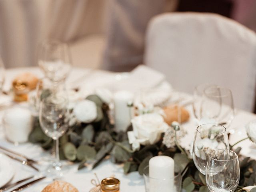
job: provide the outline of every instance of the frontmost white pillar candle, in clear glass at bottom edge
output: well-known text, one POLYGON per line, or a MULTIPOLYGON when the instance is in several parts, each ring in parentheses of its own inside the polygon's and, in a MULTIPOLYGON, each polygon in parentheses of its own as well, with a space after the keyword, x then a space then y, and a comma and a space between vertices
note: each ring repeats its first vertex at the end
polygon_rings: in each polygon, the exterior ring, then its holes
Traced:
POLYGON ((174 192, 174 160, 155 156, 149 160, 150 192, 174 192))

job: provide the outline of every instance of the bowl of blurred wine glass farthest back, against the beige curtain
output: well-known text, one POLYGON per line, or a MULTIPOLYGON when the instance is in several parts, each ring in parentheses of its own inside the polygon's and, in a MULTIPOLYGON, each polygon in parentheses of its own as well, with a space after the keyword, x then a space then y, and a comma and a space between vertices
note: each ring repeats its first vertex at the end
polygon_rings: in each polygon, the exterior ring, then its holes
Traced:
POLYGON ((64 81, 71 69, 68 45, 57 40, 46 40, 38 49, 38 65, 50 80, 64 81))

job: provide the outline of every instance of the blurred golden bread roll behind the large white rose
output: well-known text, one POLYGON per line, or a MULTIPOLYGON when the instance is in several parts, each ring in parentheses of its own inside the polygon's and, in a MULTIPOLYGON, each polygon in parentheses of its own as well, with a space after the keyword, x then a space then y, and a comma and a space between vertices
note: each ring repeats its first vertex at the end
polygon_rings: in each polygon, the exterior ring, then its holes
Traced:
POLYGON ((164 113, 166 114, 166 116, 164 116, 164 121, 168 125, 172 124, 173 121, 178 121, 179 108, 181 112, 181 122, 188 121, 189 113, 184 107, 171 105, 164 108, 164 113))

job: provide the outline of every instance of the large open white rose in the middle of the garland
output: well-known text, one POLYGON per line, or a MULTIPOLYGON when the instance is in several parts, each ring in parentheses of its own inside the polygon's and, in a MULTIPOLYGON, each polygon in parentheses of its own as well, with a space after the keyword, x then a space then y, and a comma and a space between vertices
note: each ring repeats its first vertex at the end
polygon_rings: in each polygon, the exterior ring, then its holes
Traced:
POLYGON ((142 145, 154 144, 161 138, 162 132, 168 129, 168 124, 160 114, 150 113, 136 116, 131 120, 133 131, 128 132, 129 143, 142 145))

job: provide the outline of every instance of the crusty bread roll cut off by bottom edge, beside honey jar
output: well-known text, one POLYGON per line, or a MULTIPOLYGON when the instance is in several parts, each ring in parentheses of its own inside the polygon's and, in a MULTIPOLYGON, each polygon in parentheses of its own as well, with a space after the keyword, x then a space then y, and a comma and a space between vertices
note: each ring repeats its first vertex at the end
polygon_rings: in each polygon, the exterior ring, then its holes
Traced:
POLYGON ((78 192, 78 190, 68 182, 54 181, 46 186, 42 192, 78 192))

